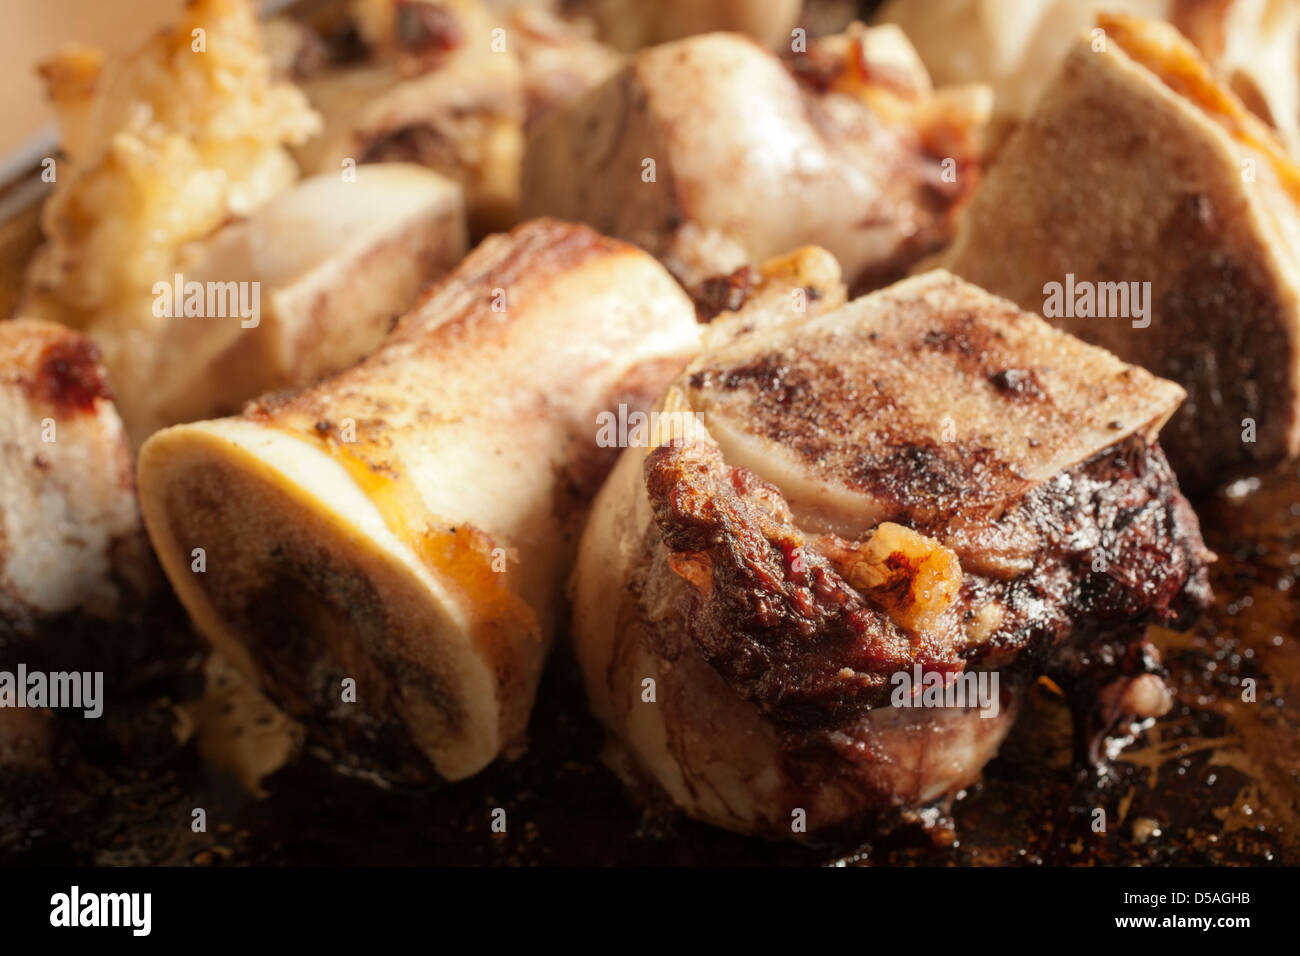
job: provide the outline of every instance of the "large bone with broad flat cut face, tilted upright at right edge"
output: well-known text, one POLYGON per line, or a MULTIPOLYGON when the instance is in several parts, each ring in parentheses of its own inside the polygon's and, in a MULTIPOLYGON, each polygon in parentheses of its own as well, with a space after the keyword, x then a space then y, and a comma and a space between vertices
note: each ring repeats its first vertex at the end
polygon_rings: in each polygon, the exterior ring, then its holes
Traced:
POLYGON ((1300 453, 1300 166, 1178 30, 1101 26, 1105 49, 1075 40, 937 264, 1178 381, 1161 445, 1202 493, 1300 453))

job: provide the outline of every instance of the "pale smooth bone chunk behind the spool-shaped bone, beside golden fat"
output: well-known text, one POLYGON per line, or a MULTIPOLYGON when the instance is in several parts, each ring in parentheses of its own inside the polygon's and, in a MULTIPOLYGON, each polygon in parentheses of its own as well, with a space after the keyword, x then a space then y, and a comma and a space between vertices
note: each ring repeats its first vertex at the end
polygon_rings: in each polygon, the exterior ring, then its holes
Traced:
POLYGON ((460 189, 406 163, 304 179, 247 220, 196 245, 185 278, 259 286, 260 315, 178 315, 157 336, 152 415, 133 431, 229 415, 264 392, 358 362, 420 290, 465 252, 460 189))

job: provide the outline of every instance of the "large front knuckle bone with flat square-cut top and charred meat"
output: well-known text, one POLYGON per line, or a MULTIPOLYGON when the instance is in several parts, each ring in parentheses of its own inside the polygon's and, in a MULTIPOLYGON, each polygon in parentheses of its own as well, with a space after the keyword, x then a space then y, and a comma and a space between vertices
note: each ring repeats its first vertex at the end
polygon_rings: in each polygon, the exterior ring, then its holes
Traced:
POLYGON ((1145 626, 1210 598, 1154 441, 1180 398, 941 272, 715 342, 602 489, 575 572, 628 777, 788 836, 798 810, 826 830, 970 784, 1040 674, 1084 752, 1162 713, 1145 626), (988 693, 922 715, 913 675, 988 693))

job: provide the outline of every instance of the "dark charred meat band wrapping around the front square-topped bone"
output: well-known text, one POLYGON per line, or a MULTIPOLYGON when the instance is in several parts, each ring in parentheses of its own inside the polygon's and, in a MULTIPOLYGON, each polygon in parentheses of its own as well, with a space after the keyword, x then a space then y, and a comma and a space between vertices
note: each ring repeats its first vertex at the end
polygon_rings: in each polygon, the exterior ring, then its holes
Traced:
POLYGON ((1017 510, 1040 536, 1032 567, 1010 580, 967 575, 952 615, 926 632, 900 627, 852 588, 794 525, 780 492, 727 466, 715 446, 655 449, 645 483, 668 564, 690 585, 680 613, 692 640, 786 730, 852 723, 884 702, 892 674, 916 663, 1043 667, 1065 645, 1079 658, 1089 641, 1138 640, 1147 623, 1183 623, 1210 601, 1195 516, 1160 447, 1138 437, 1030 492, 1017 510), (989 605, 996 627, 968 640, 989 605))

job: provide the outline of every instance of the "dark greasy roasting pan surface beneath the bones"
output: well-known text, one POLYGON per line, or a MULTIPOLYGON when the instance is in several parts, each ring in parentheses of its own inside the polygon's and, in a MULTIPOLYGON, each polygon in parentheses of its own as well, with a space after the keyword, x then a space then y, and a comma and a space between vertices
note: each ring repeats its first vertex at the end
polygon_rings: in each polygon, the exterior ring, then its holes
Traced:
MULTIPOLYGON (((330 5, 294 5, 313 16, 330 5)), ((47 138, 48 139, 48 138, 47 138)), ((0 165, 0 308, 12 315, 39 241, 32 143, 0 165)), ((1269 865, 1300 864, 1300 463, 1195 502, 1216 606, 1187 633, 1157 631, 1175 705, 1105 765, 1071 762, 1070 717, 1048 683, 950 826, 842 843, 774 844, 629 803, 601 762, 577 669, 560 643, 526 753, 456 784, 394 790, 338 773, 311 747, 251 796, 172 730, 202 688, 198 643, 166 680, 142 682, 117 722, 70 740, 51 779, 0 791, 0 860, 162 865, 1269 865), (203 808, 209 826, 185 823, 203 808), (490 813, 520 823, 493 834, 490 813), (1101 812, 1098 814, 1097 812, 1101 812), (1098 827, 1098 821, 1102 826, 1098 827)), ((88 722, 79 722, 84 728, 88 722)), ((1124 744, 1122 748, 1118 744, 1124 744)))

